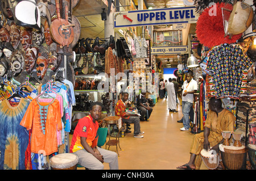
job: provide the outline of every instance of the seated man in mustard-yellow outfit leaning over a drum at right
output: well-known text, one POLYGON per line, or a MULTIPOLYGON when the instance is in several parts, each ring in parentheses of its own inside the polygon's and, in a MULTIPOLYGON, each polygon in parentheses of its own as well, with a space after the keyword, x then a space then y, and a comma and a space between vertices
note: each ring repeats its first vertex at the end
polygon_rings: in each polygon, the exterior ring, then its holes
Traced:
POLYGON ((221 132, 234 132, 234 123, 236 118, 232 112, 222 108, 221 99, 210 99, 209 110, 210 111, 207 114, 207 120, 204 125, 204 132, 193 136, 189 162, 177 167, 177 169, 199 170, 202 163, 200 151, 202 149, 210 149, 218 152, 218 145, 224 142, 221 132))

